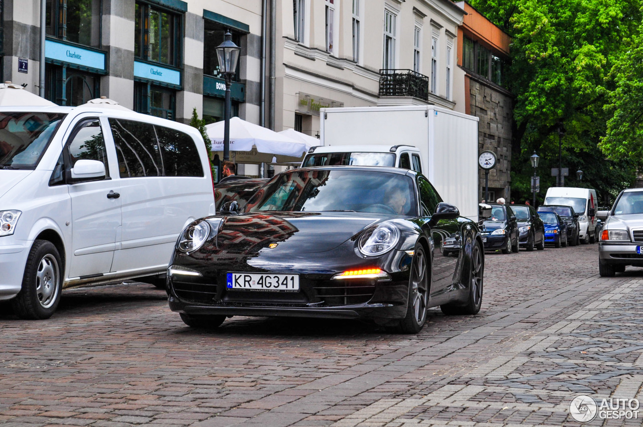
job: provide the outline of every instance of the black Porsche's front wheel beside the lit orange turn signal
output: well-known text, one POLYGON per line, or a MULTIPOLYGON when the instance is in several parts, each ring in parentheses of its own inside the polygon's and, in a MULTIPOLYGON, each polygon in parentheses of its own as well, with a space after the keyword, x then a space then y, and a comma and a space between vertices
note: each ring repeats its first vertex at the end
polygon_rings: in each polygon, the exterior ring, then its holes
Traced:
POLYGON ((399 332, 417 334, 426 322, 429 299, 429 274, 426 254, 421 244, 417 244, 411 264, 406 317, 399 323, 399 332))

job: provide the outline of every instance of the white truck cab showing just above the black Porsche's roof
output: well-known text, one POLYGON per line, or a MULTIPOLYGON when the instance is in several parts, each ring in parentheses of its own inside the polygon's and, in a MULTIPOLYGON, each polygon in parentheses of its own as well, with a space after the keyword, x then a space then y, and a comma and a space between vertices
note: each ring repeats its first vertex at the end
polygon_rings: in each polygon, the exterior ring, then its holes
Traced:
POLYGON ((424 172, 420 150, 412 145, 321 145, 311 147, 302 167, 386 166, 424 172))

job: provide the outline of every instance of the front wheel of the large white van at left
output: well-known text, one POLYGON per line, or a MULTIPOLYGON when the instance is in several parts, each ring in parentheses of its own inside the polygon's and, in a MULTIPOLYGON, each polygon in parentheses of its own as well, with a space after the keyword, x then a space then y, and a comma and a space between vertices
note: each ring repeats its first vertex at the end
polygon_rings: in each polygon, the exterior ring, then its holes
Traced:
POLYGON ((62 262, 58 250, 49 241, 33 242, 24 268, 23 287, 11 300, 14 313, 23 319, 48 319, 58 307, 61 291, 62 262))

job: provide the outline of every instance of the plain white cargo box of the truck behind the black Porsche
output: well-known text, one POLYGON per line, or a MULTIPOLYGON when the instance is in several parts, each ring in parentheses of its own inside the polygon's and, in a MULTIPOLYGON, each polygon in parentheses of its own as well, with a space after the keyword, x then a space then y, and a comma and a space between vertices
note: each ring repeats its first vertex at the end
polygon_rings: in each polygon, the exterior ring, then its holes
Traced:
POLYGON ((370 145, 378 152, 381 146, 395 152, 401 145, 415 147, 422 174, 442 199, 478 221, 477 117, 434 105, 322 108, 320 114, 322 145, 370 145))

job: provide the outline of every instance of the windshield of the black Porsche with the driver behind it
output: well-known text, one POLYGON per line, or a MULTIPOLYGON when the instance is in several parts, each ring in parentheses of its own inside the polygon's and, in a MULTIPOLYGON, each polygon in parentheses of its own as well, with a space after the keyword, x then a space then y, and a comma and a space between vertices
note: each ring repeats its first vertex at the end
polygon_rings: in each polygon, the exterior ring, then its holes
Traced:
POLYGON ((416 215, 411 177, 370 170, 293 170, 262 188, 247 212, 374 212, 416 215))

